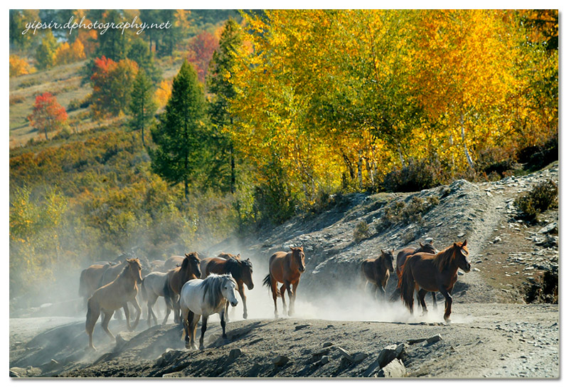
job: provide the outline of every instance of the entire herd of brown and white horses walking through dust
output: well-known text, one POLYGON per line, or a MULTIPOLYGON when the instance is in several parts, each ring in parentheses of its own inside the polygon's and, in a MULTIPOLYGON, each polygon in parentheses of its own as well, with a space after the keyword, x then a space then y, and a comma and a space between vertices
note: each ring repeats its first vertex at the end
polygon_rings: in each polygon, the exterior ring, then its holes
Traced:
MULTIPOLYGON (((129 255, 124 255, 129 256, 129 255)), ((166 302, 166 323, 170 313, 174 313, 174 322, 184 326, 186 348, 195 349, 195 332, 198 320, 201 318, 200 348, 203 348, 203 336, 206 332, 209 315, 219 314, 222 337, 225 335, 225 324, 228 322, 229 305, 238 304, 237 291, 243 300, 243 318, 247 319, 247 303, 244 285, 249 290, 253 288, 252 263, 250 259, 243 260, 240 255, 220 253, 216 257, 198 257, 198 253, 186 253, 185 256, 171 256, 167 261, 154 261, 152 271, 142 276, 142 265, 138 258, 119 257, 119 263, 96 263, 81 272, 79 293, 85 298, 87 317, 85 330, 89 336, 89 348, 92 345, 92 332, 98 318, 102 316, 102 328, 114 340, 108 325, 112 315, 122 309, 129 330, 134 330, 140 319, 141 307, 137 296, 147 305, 147 323, 151 320, 157 324, 154 314, 154 304, 159 297, 166 302), (124 258, 124 260, 122 260, 124 258), (140 286, 139 286, 140 285, 140 286), (140 293, 138 292, 140 288, 140 293), (129 322, 129 303, 137 311, 134 324, 129 322)), ((450 320, 452 288, 457 281, 457 271, 461 268, 470 271, 468 261, 467 241, 453 243, 442 251, 437 251, 431 242, 419 248, 404 248, 397 255, 395 269, 393 268, 393 251, 381 250, 381 255, 375 259, 361 262, 361 276, 366 286, 372 285, 373 295, 385 300, 385 287, 390 273, 398 276, 398 285, 390 300, 403 299, 403 303, 413 314, 413 295, 417 291, 418 301, 423 313, 427 312, 425 295, 432 293, 433 305, 436 308, 435 293, 438 291, 445 297, 446 321, 450 320)), ((263 279, 272 293, 275 305, 275 318, 278 318, 277 298, 282 298, 282 313, 287 312, 285 291, 289 296, 288 315, 294 314, 294 300, 300 276, 306 270, 304 249, 290 247, 289 252, 273 253, 269 259, 269 273, 263 279), (280 288, 277 284, 281 283, 280 288)))

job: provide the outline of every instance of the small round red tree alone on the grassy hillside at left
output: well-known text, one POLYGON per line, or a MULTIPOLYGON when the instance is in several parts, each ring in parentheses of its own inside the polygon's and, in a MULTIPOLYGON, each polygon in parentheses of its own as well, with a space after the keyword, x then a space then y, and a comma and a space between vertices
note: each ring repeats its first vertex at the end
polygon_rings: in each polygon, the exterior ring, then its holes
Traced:
POLYGON ((46 140, 48 140, 48 132, 62 129, 67 118, 65 108, 58 103, 55 96, 48 92, 36 96, 33 112, 28 116, 32 127, 43 131, 46 140))

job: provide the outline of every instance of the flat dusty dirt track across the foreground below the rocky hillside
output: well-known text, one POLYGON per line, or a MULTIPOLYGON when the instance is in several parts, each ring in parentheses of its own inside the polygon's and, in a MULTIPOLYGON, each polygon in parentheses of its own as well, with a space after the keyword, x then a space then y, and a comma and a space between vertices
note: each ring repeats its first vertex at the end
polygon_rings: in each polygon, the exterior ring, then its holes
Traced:
MULTIPOLYGON (((383 347, 405 343, 400 360, 408 377, 554 378, 559 374, 558 313, 557 305, 460 303, 449 325, 437 322, 435 313, 427 322, 416 316, 405 323, 238 320, 228 324, 227 344, 212 321, 206 349, 196 351, 184 349, 174 324, 131 333, 115 321, 112 330, 124 342, 115 346, 95 330, 95 353, 85 349, 84 323, 78 320, 43 332, 26 345, 12 345, 11 370, 60 377, 374 377, 383 347), (437 335, 437 342, 421 341, 437 335), (63 350, 61 342, 66 344, 63 350), (324 347, 326 342, 332 345, 324 347), (361 360, 343 360, 339 348, 361 360), (238 353, 234 359, 232 350, 238 353), (321 362, 324 355, 326 363, 321 362), (279 356, 289 361, 275 366, 279 356), (26 369, 28 364, 36 368, 26 369)), ((11 335, 24 327, 31 334, 34 327, 39 329, 38 321, 18 320, 11 335)))

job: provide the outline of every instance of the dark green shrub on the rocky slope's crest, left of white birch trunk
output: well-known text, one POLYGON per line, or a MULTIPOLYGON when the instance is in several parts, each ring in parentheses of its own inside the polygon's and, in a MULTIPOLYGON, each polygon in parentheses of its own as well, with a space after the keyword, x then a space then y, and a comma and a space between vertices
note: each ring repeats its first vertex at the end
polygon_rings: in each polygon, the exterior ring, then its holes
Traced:
POLYGON ((387 192, 420 192, 423 189, 439 186, 441 165, 438 159, 428 162, 425 159, 411 159, 402 169, 395 169, 385 175, 383 189, 387 192))

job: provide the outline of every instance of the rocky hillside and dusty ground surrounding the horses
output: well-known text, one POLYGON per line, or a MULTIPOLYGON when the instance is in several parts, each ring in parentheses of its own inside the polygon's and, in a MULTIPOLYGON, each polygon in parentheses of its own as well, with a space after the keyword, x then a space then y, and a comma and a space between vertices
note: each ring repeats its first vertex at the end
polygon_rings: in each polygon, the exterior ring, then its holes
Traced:
MULTIPOLYGON (((516 218, 514 206, 517 196, 545 179, 558 182, 557 163, 499 182, 459 180, 419 193, 336 198, 319 214, 212 247, 212 252, 250 257, 256 286, 246 291, 250 319, 240 319, 238 306, 224 343, 218 320, 212 318, 205 350, 185 350, 174 323, 147 328, 144 321, 128 332, 122 321, 113 320, 117 343, 97 325, 97 352, 87 352, 84 312, 46 318, 65 310, 54 303, 13 313, 11 375, 558 377, 558 305, 525 302, 528 295, 546 300, 543 275, 557 276, 558 209, 541 214, 538 224, 526 224, 516 218), (425 204, 430 204, 426 210, 420 208, 425 204), (401 219, 413 206, 419 206, 420 216, 401 219), (395 207, 403 213, 395 214, 395 207), (354 230, 361 221, 370 233, 356 242, 354 230), (411 316, 399 302, 372 300, 358 280, 363 258, 378 256, 380 248, 418 246, 425 238, 433 238, 439 249, 468 241, 473 269, 459 273, 450 324, 442 320, 442 299, 437 310, 427 304, 427 315, 411 316), (275 320, 261 280, 270 253, 291 245, 304 246, 307 272, 298 288, 297 314, 275 320)), ((69 307, 70 302, 59 305, 69 307)))

